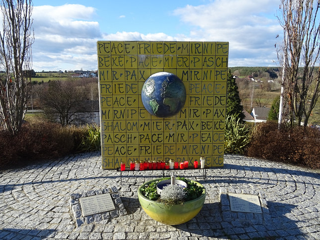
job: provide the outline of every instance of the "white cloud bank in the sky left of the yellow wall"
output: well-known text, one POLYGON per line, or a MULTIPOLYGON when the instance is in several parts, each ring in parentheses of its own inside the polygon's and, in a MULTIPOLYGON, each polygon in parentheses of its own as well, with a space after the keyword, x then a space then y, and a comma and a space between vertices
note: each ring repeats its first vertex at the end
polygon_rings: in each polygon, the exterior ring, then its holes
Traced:
POLYGON ((33 69, 96 69, 95 46, 101 31, 99 23, 91 21, 94 14, 95 8, 80 4, 34 6, 33 69))

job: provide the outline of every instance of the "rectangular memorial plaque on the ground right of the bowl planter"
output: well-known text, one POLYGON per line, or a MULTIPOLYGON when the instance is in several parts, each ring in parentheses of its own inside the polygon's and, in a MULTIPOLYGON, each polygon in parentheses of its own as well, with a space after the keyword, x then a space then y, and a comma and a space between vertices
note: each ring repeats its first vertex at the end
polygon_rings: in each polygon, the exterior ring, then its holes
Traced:
POLYGON ((231 211, 244 213, 262 213, 257 195, 229 193, 231 211))

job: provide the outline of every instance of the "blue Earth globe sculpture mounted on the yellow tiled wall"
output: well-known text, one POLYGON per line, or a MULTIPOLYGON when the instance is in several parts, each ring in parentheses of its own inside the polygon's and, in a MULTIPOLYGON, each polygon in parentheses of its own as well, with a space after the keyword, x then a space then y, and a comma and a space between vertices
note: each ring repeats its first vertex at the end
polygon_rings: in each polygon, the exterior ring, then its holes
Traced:
POLYGON ((178 113, 186 99, 182 81, 174 74, 160 72, 151 75, 141 92, 143 105, 150 114, 170 117, 178 113))

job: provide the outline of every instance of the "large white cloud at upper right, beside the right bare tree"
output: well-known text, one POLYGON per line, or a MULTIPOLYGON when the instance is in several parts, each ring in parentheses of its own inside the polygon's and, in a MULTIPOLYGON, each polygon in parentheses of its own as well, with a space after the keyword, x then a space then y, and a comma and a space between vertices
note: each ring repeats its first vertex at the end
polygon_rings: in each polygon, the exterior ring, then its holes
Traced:
POLYGON ((173 13, 192 26, 190 36, 195 40, 229 42, 229 66, 269 66, 276 58, 275 36, 281 33, 274 16, 278 4, 278 0, 215 0, 173 13))

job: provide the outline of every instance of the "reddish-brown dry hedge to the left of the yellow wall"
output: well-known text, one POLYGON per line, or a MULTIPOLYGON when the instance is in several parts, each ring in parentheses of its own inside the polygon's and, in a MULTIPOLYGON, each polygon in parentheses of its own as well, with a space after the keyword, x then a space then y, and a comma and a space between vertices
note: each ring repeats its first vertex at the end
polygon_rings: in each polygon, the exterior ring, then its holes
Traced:
POLYGON ((59 124, 24 124, 17 135, 0 132, 0 167, 7 168, 33 160, 52 159, 75 153, 85 129, 63 128, 59 124))

